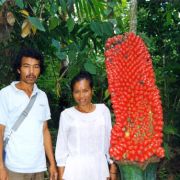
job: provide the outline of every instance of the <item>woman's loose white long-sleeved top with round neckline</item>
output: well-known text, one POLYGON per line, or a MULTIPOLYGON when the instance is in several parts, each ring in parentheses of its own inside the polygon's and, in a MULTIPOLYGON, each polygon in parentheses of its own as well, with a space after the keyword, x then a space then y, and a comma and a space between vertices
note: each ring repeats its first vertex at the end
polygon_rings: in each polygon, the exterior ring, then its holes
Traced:
POLYGON ((91 113, 74 107, 61 113, 56 143, 57 166, 65 166, 65 180, 106 180, 111 116, 104 104, 91 113))

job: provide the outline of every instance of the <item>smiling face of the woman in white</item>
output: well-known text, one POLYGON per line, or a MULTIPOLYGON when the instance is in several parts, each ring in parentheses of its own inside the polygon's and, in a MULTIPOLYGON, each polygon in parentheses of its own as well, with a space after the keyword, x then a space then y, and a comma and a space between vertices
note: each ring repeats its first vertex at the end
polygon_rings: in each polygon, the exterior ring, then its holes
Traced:
POLYGON ((91 103, 92 88, 88 80, 82 79, 74 84, 73 97, 79 106, 86 106, 91 103))

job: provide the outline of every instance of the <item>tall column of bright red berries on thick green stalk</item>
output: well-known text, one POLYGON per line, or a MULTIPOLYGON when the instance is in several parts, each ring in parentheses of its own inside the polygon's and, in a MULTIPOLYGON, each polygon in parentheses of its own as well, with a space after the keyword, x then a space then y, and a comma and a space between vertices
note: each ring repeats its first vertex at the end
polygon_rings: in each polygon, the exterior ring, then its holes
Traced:
POLYGON ((150 54, 134 33, 106 42, 105 64, 115 125, 110 155, 115 160, 144 162, 164 157, 163 112, 150 54))

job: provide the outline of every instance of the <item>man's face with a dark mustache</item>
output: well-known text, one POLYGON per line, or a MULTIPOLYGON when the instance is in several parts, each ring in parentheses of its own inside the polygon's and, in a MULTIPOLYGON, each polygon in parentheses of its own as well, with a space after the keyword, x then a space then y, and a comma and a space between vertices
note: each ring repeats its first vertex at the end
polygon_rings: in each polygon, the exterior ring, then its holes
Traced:
POLYGON ((40 74, 39 60, 31 57, 23 57, 21 67, 17 70, 20 74, 20 81, 27 84, 34 84, 40 74))

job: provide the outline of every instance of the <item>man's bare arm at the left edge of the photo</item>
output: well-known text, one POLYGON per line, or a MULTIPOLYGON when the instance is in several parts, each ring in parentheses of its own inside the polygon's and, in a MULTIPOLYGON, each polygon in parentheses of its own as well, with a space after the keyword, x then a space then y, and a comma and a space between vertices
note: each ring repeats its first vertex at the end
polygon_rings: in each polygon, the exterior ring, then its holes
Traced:
POLYGON ((3 137, 5 126, 0 124, 0 180, 8 180, 8 174, 3 162, 3 137))

